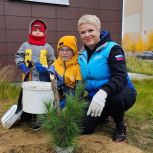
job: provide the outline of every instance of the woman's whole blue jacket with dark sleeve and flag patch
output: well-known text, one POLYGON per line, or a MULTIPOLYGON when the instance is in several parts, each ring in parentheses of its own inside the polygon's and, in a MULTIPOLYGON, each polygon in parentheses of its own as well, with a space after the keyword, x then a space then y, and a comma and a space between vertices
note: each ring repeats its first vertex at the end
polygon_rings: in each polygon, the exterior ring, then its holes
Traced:
POLYGON ((105 90, 108 95, 120 92, 125 85, 135 91, 127 75, 122 48, 107 36, 110 33, 103 32, 95 50, 91 51, 85 46, 78 58, 89 96, 94 96, 99 89, 105 90))

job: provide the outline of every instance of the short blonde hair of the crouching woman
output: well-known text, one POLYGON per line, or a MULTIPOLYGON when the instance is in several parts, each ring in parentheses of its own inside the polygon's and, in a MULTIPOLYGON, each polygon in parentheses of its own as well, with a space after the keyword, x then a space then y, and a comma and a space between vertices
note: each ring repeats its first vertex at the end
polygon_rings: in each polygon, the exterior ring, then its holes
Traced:
POLYGON ((85 15, 81 16, 78 21, 78 29, 79 29, 80 25, 82 25, 82 24, 91 24, 91 25, 95 26, 98 30, 101 29, 100 19, 96 15, 85 14, 85 15))

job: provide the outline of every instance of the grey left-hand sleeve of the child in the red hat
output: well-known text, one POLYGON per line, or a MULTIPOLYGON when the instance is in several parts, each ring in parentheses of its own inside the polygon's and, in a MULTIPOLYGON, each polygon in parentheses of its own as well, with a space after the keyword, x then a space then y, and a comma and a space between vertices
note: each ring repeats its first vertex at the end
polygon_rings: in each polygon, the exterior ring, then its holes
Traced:
POLYGON ((17 66, 20 65, 20 63, 24 63, 25 59, 25 43, 23 43, 19 50, 15 54, 15 63, 17 66))

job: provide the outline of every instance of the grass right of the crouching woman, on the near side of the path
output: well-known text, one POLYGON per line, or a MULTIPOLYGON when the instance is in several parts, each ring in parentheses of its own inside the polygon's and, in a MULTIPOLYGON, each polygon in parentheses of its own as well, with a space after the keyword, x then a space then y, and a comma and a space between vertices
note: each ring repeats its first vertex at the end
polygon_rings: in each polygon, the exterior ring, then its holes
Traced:
POLYGON ((137 101, 126 113, 128 143, 153 152, 153 79, 134 81, 137 101))

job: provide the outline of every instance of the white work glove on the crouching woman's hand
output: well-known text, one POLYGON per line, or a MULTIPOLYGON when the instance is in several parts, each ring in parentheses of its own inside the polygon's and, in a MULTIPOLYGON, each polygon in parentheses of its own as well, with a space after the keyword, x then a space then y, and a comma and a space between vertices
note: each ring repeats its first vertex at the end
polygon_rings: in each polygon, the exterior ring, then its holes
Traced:
POLYGON ((90 106, 88 108, 87 115, 92 117, 100 116, 105 106, 107 93, 100 89, 92 98, 90 106))

